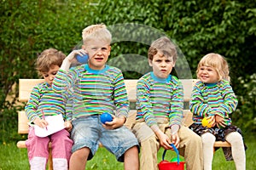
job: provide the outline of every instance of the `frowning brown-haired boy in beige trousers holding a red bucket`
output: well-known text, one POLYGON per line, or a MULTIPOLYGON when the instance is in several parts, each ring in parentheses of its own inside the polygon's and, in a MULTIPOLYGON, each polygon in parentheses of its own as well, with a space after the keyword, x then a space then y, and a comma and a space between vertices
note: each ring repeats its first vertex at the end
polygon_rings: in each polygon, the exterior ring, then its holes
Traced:
POLYGON ((177 49, 167 37, 155 40, 148 49, 153 71, 137 82, 137 121, 133 133, 141 144, 142 170, 157 168, 157 152, 175 144, 184 156, 187 169, 203 168, 201 139, 182 124, 183 86, 170 73, 177 60, 177 49))

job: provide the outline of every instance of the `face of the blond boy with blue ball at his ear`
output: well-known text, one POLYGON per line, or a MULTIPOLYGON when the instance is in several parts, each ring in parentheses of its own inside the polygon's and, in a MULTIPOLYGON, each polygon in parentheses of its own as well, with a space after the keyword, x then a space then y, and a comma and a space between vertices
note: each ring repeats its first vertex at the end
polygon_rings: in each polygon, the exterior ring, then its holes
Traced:
POLYGON ((93 70, 102 70, 108 60, 111 46, 108 42, 89 41, 88 45, 84 45, 85 50, 89 55, 88 65, 93 70))

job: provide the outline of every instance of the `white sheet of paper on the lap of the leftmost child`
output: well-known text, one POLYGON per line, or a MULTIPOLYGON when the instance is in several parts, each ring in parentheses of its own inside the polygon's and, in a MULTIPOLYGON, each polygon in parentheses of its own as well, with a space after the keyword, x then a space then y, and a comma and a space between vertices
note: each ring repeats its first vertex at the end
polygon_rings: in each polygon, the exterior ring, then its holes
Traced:
POLYGON ((65 128, 62 115, 45 116, 45 121, 48 122, 47 128, 42 128, 35 125, 35 133, 38 137, 46 137, 65 128))

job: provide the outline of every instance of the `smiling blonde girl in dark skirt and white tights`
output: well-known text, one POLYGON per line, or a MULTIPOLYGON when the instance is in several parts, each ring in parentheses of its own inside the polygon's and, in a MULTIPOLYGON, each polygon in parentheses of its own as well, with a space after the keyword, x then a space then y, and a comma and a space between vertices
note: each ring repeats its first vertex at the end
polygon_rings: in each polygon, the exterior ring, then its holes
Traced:
POLYGON ((233 160, 237 170, 246 169, 245 148, 241 129, 232 125, 230 114, 236 111, 237 99, 230 86, 229 65, 220 54, 205 55, 197 66, 197 78, 189 105, 194 114, 189 128, 201 136, 204 169, 212 169, 213 144, 227 141, 230 148, 223 148, 226 160, 233 160), (210 127, 202 126, 207 117, 210 127))

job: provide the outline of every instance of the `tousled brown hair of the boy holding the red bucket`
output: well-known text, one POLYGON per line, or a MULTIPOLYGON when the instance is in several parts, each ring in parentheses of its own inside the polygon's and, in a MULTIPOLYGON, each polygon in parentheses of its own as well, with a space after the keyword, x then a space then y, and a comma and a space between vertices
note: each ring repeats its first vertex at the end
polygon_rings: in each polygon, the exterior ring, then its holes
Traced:
POLYGON ((148 49, 148 59, 152 60, 158 51, 165 56, 172 57, 174 62, 177 60, 177 49, 168 37, 160 37, 152 42, 148 49))

